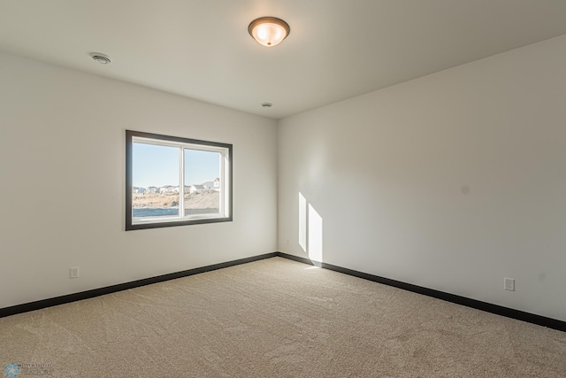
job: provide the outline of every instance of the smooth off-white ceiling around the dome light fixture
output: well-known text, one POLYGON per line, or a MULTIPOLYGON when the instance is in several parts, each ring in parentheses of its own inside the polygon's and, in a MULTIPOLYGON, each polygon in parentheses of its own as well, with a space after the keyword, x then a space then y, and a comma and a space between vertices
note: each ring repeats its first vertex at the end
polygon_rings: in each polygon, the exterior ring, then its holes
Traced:
POLYGON ((0 1, 0 50, 273 119, 564 34, 565 0, 0 1))

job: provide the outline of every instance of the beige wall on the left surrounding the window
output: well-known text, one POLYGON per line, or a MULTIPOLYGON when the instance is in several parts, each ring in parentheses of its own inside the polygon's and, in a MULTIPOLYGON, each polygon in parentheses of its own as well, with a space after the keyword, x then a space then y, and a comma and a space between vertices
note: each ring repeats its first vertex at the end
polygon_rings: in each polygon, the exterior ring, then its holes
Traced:
POLYGON ((0 308, 276 251, 276 121, 26 58, 0 67, 0 308), (233 222, 125 232, 126 129, 233 143, 233 222))

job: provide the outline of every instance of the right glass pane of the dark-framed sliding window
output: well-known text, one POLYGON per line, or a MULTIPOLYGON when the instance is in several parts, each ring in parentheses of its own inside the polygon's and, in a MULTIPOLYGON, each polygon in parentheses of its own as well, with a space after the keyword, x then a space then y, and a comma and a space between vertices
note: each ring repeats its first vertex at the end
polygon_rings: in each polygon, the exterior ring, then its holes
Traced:
POLYGON ((222 154, 185 149, 185 216, 220 212, 222 154))

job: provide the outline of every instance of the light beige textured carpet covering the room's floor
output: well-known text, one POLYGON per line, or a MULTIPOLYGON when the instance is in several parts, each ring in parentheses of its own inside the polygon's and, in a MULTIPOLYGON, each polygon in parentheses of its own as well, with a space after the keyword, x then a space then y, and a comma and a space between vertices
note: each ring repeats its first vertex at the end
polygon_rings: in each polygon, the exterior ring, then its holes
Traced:
POLYGON ((0 319, 0 374, 8 363, 56 377, 564 377, 566 333, 270 258, 0 319))

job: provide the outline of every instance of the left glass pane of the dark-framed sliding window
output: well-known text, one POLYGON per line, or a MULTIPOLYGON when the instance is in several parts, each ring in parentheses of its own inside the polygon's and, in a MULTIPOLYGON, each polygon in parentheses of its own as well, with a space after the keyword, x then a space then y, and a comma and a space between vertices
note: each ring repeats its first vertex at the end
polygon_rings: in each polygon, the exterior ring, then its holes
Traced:
POLYGON ((132 143, 132 216, 179 216, 178 147, 132 143))

